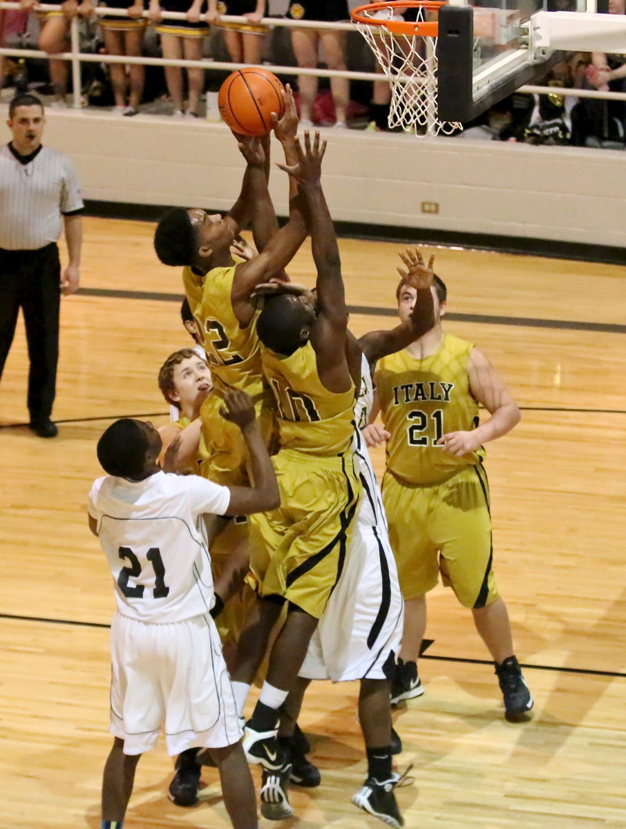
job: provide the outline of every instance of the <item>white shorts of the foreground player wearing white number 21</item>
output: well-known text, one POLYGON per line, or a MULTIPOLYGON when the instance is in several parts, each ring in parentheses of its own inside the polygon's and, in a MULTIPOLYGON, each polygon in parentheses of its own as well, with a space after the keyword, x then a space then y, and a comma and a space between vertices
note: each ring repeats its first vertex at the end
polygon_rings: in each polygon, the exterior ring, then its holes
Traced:
POLYGON ((148 624, 116 613, 111 625, 111 721, 124 754, 153 749, 162 725, 167 753, 222 748, 241 728, 213 619, 148 624))

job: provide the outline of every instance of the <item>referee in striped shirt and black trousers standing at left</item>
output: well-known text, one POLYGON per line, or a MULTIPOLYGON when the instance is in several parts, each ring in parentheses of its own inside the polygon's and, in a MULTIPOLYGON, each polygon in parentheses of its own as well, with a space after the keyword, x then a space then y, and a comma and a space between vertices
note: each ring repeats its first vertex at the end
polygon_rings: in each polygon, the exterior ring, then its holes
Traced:
POLYGON ((0 147, 0 377, 22 308, 28 356, 29 428, 54 438, 61 293, 78 288, 83 201, 70 159, 41 146, 46 119, 35 95, 9 104, 12 141, 0 147), (56 241, 65 229, 70 261, 61 274, 56 241))

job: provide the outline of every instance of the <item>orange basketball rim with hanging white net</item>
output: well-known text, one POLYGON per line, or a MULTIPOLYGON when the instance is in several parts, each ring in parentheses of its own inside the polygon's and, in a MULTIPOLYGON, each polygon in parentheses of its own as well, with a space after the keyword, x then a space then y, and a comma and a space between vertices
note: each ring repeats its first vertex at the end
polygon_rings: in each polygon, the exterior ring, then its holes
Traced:
POLYGON ((352 22, 391 80, 387 121, 391 128, 421 136, 462 128, 437 117, 439 23, 433 17, 445 5, 439 0, 391 0, 358 6, 351 12, 352 22))

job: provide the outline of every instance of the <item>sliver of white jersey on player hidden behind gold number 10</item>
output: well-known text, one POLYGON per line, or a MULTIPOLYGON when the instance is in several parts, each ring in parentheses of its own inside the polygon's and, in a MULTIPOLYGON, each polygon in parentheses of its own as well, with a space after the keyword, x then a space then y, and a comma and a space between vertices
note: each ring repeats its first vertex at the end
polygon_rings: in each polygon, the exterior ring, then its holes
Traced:
POLYGON ((370 365, 365 354, 362 356, 361 366, 361 390, 354 406, 355 422, 357 431, 352 442, 352 451, 357 466, 357 473, 363 484, 363 494, 357 521, 362 527, 384 527, 386 530, 387 520, 385 510, 382 506, 381 487, 378 484, 376 473, 371 465, 370 455, 367 452, 365 440, 362 438, 361 429, 365 429, 369 423, 371 407, 374 404, 374 384, 371 380, 370 365))

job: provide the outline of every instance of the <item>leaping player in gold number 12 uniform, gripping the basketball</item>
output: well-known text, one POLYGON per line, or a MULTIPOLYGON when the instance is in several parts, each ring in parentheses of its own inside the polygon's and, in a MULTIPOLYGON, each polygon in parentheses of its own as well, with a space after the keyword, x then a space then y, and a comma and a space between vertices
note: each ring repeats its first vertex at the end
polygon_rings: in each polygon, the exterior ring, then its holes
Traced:
MULTIPOLYGON (((298 127, 293 95, 285 91, 285 113, 274 131, 283 144, 285 161, 294 163, 298 127)), ((265 142, 269 147, 269 141, 265 142)), ((281 274, 306 236, 297 191, 292 187, 289 221, 277 230, 267 188, 266 155, 260 138, 242 138, 248 162, 240 196, 222 217, 200 209, 169 211, 158 223, 154 246, 164 264, 185 265, 183 284, 189 306, 205 338, 205 351, 214 389, 202 405, 202 435, 209 458, 202 474, 217 482, 247 480, 245 446, 236 429, 223 424, 221 396, 229 387, 245 390, 259 407, 264 400, 257 311, 250 292, 257 284, 281 274), (235 262, 231 244, 240 227, 252 222, 259 254, 235 262)))

